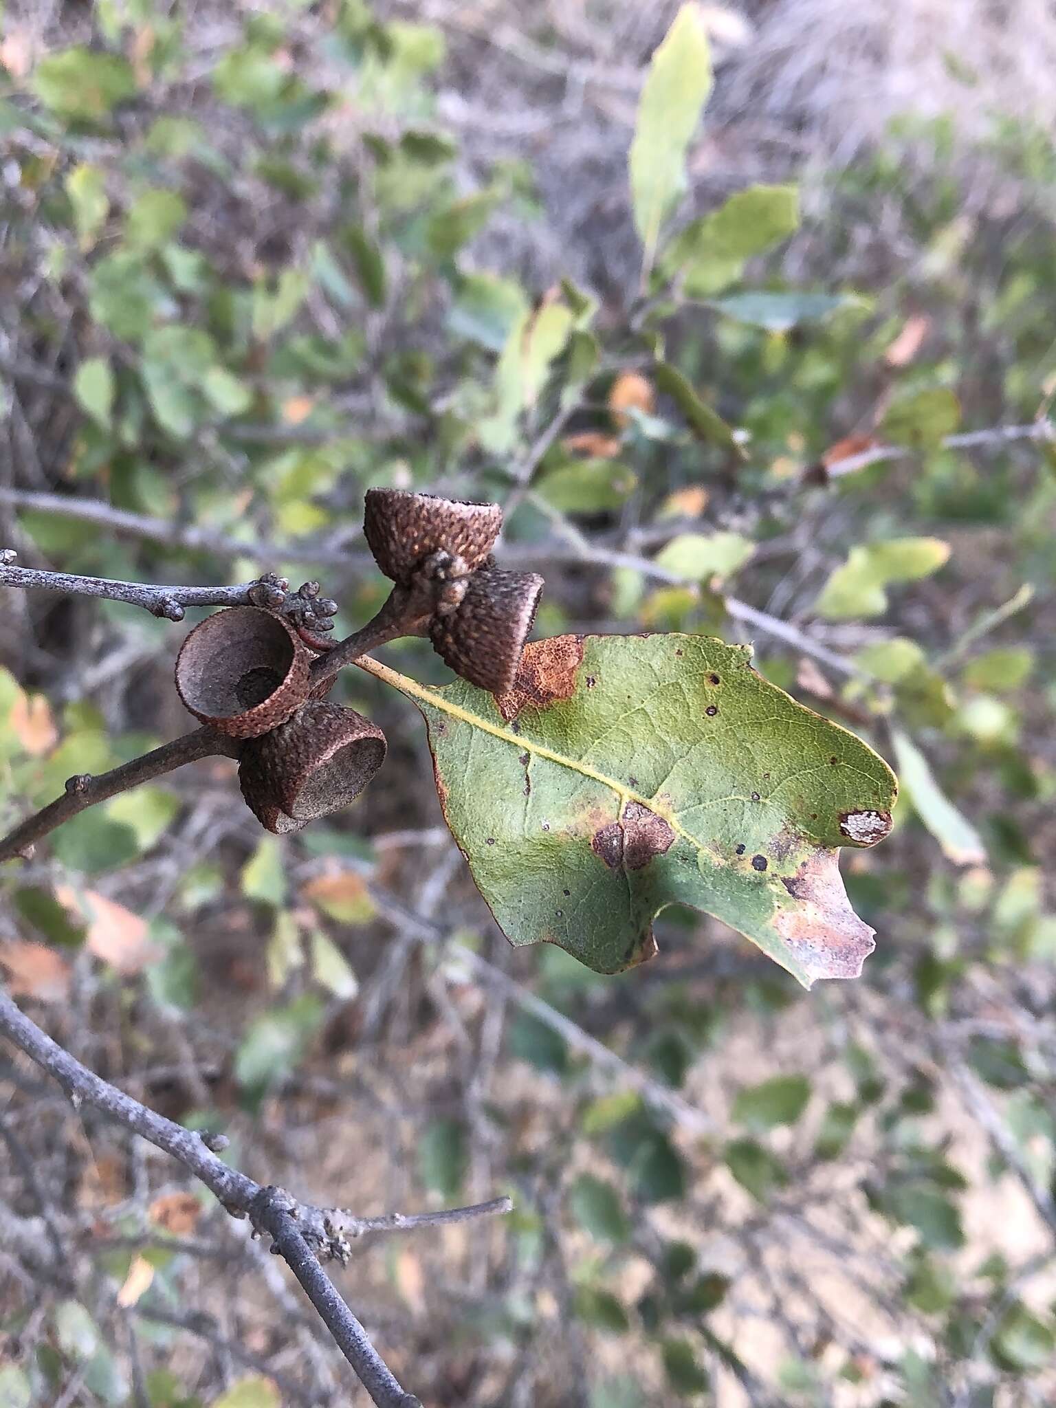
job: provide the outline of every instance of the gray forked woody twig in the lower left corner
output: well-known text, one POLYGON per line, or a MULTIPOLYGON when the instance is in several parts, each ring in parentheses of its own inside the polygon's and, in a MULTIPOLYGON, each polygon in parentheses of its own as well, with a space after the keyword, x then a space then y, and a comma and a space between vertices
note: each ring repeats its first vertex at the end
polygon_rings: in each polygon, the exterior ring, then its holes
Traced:
MULTIPOLYGON (((420 1401, 400 1387, 320 1264, 320 1259, 324 1257, 348 1260, 349 1246, 344 1231, 353 1231, 358 1224, 363 1229, 383 1231, 379 1224, 389 1219, 358 1219, 344 1209, 298 1202, 283 1188, 263 1187, 238 1169, 228 1167, 210 1148, 215 1140, 207 1142, 207 1136, 184 1129, 183 1125, 148 1110, 117 1086, 111 1086, 82 1066, 1 990, 0 1033, 54 1076, 75 1107, 92 1105, 141 1135, 156 1149, 172 1155, 215 1194, 228 1212, 234 1217, 248 1217, 258 1232, 266 1232, 272 1238, 272 1250, 283 1257, 297 1277, 377 1408, 421 1408, 420 1401), (337 1224, 341 1224, 341 1229, 337 1224)), ((455 1209, 449 1214, 449 1219, 508 1212, 510 1208, 508 1198, 496 1198, 476 1208, 455 1209)), ((394 1225, 408 1221, 411 1219, 398 1219, 394 1225)))

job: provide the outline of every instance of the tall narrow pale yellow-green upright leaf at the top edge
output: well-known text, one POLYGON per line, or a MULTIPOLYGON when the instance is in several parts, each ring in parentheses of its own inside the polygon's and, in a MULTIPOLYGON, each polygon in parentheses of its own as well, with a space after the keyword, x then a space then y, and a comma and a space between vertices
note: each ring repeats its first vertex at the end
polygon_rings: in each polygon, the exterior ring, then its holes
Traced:
POLYGON ((700 6, 684 4, 652 56, 631 142, 631 207, 652 266, 660 227, 686 184, 686 152, 711 92, 700 6))

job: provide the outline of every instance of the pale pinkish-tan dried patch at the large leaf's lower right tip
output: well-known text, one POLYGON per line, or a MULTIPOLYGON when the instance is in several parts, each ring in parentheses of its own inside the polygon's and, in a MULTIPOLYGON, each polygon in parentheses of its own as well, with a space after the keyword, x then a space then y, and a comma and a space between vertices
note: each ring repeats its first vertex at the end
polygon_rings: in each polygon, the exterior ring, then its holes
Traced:
POLYGON ((794 903, 779 905, 774 928, 807 980, 857 977, 876 948, 874 931, 850 908, 838 852, 815 850, 800 865, 800 873, 783 876, 781 884, 794 903))

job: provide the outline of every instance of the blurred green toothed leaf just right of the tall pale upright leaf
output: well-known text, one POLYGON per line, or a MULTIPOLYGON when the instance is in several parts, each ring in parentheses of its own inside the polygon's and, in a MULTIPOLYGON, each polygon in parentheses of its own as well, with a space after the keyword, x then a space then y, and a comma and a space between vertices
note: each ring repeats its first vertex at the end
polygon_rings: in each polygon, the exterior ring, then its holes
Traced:
POLYGON ((707 298, 743 273, 745 263, 800 228, 796 186, 750 186, 691 221, 663 255, 667 277, 681 275, 690 298, 707 298))

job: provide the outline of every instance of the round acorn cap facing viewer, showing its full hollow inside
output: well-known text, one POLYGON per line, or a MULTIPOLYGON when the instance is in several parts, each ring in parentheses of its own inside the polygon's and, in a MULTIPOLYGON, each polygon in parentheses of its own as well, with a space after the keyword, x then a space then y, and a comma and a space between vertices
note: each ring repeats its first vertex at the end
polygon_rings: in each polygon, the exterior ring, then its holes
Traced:
POLYGON ((260 607, 228 607, 196 625, 176 656, 176 693, 231 738, 286 722, 308 693, 311 655, 293 627, 260 607))

